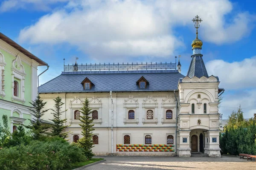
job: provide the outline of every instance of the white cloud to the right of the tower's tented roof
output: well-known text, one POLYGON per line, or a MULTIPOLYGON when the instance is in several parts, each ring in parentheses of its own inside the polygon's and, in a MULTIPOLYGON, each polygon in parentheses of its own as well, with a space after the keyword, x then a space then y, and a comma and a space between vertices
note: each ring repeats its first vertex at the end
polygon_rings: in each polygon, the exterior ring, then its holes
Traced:
POLYGON ((256 88, 256 57, 241 62, 225 62, 221 59, 206 63, 209 75, 220 77, 220 87, 225 89, 256 88))

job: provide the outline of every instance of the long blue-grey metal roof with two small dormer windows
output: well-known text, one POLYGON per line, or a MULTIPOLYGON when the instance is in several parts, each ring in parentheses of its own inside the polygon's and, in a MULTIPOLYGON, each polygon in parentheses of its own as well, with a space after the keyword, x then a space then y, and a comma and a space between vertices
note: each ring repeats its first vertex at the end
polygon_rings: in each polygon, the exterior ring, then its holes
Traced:
POLYGON ((63 92, 109 92, 109 91, 173 91, 183 78, 177 70, 140 70, 140 71, 69 71, 39 87, 39 93, 63 92), (140 77, 148 80, 149 85, 140 89, 136 82, 140 77), (90 79, 93 86, 84 90, 81 82, 90 79))

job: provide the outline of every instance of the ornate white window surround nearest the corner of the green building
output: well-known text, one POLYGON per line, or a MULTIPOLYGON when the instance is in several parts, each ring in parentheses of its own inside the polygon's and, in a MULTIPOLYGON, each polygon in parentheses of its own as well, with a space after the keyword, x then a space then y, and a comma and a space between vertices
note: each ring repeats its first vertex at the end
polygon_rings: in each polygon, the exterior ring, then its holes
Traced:
POLYGON ((20 59, 20 55, 17 54, 16 59, 14 59, 12 61, 12 101, 18 101, 18 102, 22 102, 23 104, 25 103, 25 69, 24 66, 21 64, 21 59, 20 59), (15 68, 15 64, 17 62, 17 66, 20 67, 20 70, 18 70, 17 68, 15 68), (20 83, 19 83, 19 91, 20 91, 20 95, 19 96, 14 96, 14 78, 16 79, 20 79, 20 83))

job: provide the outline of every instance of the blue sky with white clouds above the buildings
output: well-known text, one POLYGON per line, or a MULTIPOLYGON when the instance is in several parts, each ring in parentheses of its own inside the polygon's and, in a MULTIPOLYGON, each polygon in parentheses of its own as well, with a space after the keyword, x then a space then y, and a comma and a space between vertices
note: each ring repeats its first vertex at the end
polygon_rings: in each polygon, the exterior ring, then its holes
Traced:
MULTIPOLYGON (((40 85, 65 64, 175 62, 182 74, 195 39, 209 75, 224 88, 223 119, 241 105, 256 113, 255 0, 0 0, 0 32, 49 64, 40 85)), ((46 66, 38 68, 38 74, 46 66)))

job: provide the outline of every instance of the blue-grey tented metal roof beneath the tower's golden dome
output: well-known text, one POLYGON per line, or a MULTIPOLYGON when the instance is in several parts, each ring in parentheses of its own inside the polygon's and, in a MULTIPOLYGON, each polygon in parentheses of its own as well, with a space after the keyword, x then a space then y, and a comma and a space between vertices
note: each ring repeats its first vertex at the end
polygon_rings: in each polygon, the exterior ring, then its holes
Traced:
POLYGON ((192 78, 194 76, 200 78, 200 77, 209 77, 208 76, 208 73, 207 73, 207 70, 205 68, 205 65, 204 65, 204 60, 203 60, 203 55, 201 54, 197 54, 197 55, 192 55, 191 56, 192 59, 191 59, 191 62, 190 62, 190 65, 189 65, 189 71, 188 71, 188 74, 187 76, 192 78))

